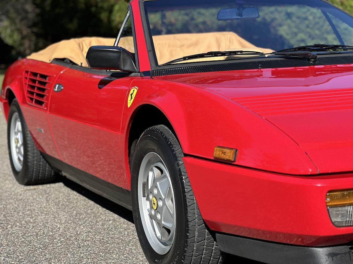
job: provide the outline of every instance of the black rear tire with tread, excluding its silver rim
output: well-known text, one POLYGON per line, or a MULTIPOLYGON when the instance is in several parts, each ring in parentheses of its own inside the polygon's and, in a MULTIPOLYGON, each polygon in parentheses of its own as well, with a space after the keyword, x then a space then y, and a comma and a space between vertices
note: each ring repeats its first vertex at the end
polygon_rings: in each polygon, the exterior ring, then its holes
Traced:
POLYGON ((10 156, 11 169, 14 177, 18 183, 22 185, 37 185, 52 183, 56 180, 56 173, 43 158, 41 153, 37 150, 32 135, 28 130, 23 114, 19 107, 18 101, 15 99, 12 101, 10 110, 8 113, 7 123, 7 146, 8 153, 10 156), (20 171, 15 169, 11 155, 11 143, 10 143, 10 130, 11 120, 14 113, 18 113, 23 133, 23 165, 20 171))

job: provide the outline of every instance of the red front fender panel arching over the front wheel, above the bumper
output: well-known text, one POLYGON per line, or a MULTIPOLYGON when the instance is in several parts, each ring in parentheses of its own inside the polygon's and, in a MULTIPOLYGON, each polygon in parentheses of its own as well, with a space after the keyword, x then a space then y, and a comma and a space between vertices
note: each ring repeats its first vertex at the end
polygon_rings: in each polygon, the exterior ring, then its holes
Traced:
MULTIPOLYGON (((122 119, 124 150, 134 111, 143 104, 160 109, 172 124, 186 156, 213 159, 214 148, 238 149, 238 166, 292 175, 317 174, 306 153, 279 128, 245 107, 207 89, 140 78, 133 106, 122 119)), ((123 155, 125 158, 126 155, 123 155)))

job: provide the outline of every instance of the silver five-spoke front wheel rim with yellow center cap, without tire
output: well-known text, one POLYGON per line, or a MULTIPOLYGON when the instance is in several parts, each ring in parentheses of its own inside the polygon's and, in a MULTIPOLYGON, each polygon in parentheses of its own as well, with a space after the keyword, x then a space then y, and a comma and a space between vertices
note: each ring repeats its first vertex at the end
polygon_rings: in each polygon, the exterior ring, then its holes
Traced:
POLYGON ((138 200, 147 239, 158 254, 166 254, 175 237, 175 206, 172 181, 162 158, 154 152, 142 161, 138 200))

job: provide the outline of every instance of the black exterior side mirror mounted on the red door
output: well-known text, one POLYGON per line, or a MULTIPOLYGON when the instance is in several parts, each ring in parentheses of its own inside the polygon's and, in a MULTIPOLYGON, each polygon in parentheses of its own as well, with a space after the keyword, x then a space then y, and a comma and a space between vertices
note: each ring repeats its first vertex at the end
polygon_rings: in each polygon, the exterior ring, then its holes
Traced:
POLYGON ((134 54, 121 47, 92 46, 87 52, 86 61, 91 69, 137 73, 134 54))

